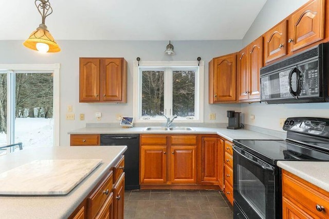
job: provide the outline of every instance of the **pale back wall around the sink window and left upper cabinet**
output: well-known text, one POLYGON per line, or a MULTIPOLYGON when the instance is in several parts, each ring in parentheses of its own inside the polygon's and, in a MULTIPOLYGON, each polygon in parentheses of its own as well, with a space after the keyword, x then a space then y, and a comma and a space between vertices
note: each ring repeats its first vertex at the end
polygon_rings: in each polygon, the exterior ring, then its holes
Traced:
POLYGON ((98 122, 96 112, 102 113, 100 122, 117 122, 115 114, 133 115, 133 61, 196 61, 201 57, 205 66, 204 111, 205 122, 227 122, 227 110, 240 110, 240 104, 208 104, 208 62, 241 49, 242 40, 231 41, 172 41, 175 56, 165 54, 165 41, 58 41, 62 51, 40 54, 22 45, 23 41, 0 41, 0 63, 60 63, 60 144, 69 145, 68 131, 85 127, 86 122, 98 122), (127 103, 79 103, 79 57, 124 57, 128 62, 127 103), (74 121, 65 120, 67 105, 72 105, 74 121), (79 121, 79 114, 85 121, 79 121), (209 114, 216 113, 216 120, 209 114))

